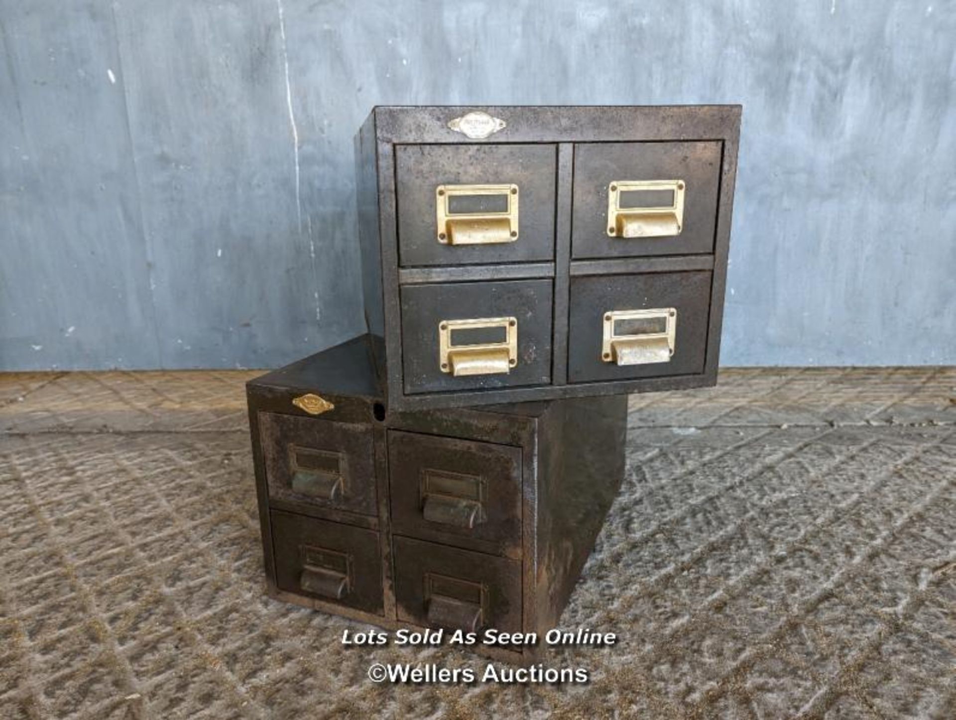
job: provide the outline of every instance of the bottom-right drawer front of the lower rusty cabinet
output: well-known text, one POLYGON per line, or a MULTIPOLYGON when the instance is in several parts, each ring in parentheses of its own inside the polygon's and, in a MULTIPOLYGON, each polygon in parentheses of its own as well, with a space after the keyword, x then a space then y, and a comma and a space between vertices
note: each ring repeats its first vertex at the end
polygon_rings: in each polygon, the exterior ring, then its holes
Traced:
POLYGON ((521 631, 521 563, 395 536, 399 620, 433 627, 521 631))

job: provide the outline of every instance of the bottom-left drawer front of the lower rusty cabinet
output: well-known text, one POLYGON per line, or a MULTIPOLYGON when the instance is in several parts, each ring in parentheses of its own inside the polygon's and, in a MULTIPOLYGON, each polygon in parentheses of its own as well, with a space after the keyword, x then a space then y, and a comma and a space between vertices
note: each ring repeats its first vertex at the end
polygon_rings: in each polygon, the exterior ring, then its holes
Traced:
POLYGON ((383 614, 378 533, 272 511, 272 552, 280 590, 383 614))

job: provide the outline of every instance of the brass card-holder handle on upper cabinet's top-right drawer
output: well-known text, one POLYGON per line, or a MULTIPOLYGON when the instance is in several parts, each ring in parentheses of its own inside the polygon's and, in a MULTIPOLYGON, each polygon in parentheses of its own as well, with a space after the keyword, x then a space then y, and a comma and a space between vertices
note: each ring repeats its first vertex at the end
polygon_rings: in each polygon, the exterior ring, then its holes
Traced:
POLYGON ((607 234, 611 237, 673 237, 684 225, 683 180, 616 180, 607 189, 607 234), (626 197, 621 197, 627 193, 626 197), (644 194, 643 193, 653 193, 644 194), (670 193, 670 202, 653 204, 670 193), (630 205, 630 199, 637 201, 630 205), (625 205, 621 207, 621 201, 625 205), (652 203, 650 205, 641 204, 652 203))

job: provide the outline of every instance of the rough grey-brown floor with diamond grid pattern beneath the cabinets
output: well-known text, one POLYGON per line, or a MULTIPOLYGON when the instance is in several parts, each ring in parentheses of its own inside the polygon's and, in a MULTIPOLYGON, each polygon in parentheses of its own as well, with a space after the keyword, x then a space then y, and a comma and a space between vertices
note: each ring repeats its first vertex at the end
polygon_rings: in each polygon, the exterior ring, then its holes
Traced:
POLYGON ((956 369, 632 398, 567 687, 373 685, 485 661, 267 600, 251 376, 0 376, 0 717, 956 717, 956 369))

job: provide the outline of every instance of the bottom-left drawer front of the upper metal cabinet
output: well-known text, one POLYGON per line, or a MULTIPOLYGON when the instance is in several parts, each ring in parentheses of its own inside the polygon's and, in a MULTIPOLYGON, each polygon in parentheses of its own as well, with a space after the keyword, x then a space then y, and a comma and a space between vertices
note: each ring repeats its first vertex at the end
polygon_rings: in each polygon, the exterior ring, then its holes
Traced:
POLYGON ((403 287, 405 393, 550 383, 552 287, 550 279, 403 287))

